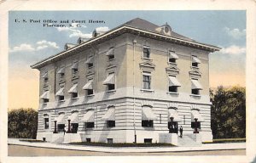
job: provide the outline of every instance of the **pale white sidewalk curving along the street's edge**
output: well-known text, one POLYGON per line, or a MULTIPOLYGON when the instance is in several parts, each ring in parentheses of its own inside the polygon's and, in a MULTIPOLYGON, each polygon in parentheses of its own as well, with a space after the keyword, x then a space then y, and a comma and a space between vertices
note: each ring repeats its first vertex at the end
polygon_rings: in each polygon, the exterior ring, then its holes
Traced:
POLYGON ((95 146, 80 146, 70 144, 55 144, 55 143, 30 143, 21 142, 16 138, 9 138, 9 144, 25 145, 31 147, 41 147, 50 149, 71 149, 82 151, 96 151, 96 152, 184 152, 184 151, 209 151, 209 150, 227 150, 227 149, 246 149, 246 143, 207 143, 200 147, 95 147, 95 146))

